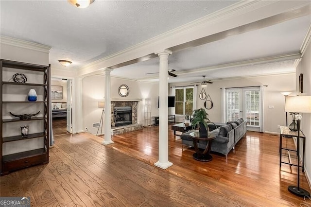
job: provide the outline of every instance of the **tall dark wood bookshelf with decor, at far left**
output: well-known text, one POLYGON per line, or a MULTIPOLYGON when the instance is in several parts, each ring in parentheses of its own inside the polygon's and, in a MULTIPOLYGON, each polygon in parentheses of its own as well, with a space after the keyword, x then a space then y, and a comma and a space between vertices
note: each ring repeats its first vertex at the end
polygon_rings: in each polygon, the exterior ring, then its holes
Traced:
MULTIPOLYGON (((24 71, 22 71, 24 72, 24 71)), ((0 59, 0 175, 8 174, 12 171, 16 171, 22 168, 26 168, 33 165, 38 164, 46 164, 49 163, 49 146, 50 146, 50 137, 49 137, 49 131, 50 131, 50 65, 49 66, 42 66, 42 65, 36 65, 36 64, 30 64, 30 63, 22 63, 22 62, 16 62, 11 60, 3 60, 0 59), (37 75, 42 75, 42 79, 38 80, 36 83, 16 83, 8 80, 7 74, 10 71, 10 69, 21 69, 25 70, 25 73, 31 77, 34 73, 37 75), (35 72, 28 72, 28 70, 32 70, 35 72), (3 75, 5 74, 5 76, 3 75), (6 77, 5 80, 3 80, 3 77, 6 77), (21 88, 27 88, 31 89, 33 86, 35 87, 43 87, 43 91, 41 96, 43 96, 43 99, 36 102, 29 102, 29 101, 13 101, 14 93, 12 93, 12 90, 9 92, 11 96, 3 100, 3 86, 6 85, 6 93, 7 90, 10 90, 10 86, 16 86, 21 88), (11 98, 12 97, 12 98, 11 98), (11 98, 11 100, 10 100, 11 98), (18 108, 19 106, 24 106, 27 104, 29 105, 30 109, 24 109, 24 111, 21 111, 19 114, 31 114, 29 111, 36 113, 38 109, 38 104, 42 104, 43 110, 41 117, 32 117, 30 120, 20 120, 19 118, 13 118, 13 119, 3 119, 3 114, 9 113, 7 111, 6 106, 8 104, 14 103, 15 106, 18 108), (20 131, 20 127, 18 124, 13 124, 12 129, 9 127, 8 129, 11 131, 6 131, 5 134, 9 135, 7 137, 3 137, 3 129, 5 126, 5 129, 7 130, 8 125, 10 122, 19 122, 19 121, 28 121, 26 122, 29 125, 32 125, 33 121, 41 121, 43 124, 43 129, 41 132, 28 134, 27 137, 22 137, 21 135, 18 136, 12 136, 16 135, 17 131, 20 131), (42 145, 41 143, 37 145, 35 150, 29 150, 25 152, 20 152, 23 149, 17 149, 17 146, 19 146, 17 143, 23 140, 23 144, 27 147, 31 146, 30 139, 33 138, 42 138, 42 145), (10 142, 10 143, 8 143, 10 142), (5 145, 5 146, 4 146, 5 145), (41 148, 41 146, 43 146, 41 148), (5 148, 4 148, 5 147, 5 148), (3 149, 6 149, 4 151, 3 149), (12 153, 12 149, 15 150, 15 152, 9 155, 3 155, 4 152, 6 154, 12 153)), ((25 94, 25 97, 27 97, 27 94, 25 94)), ((40 110, 41 111, 41 110, 40 110)), ((19 115, 18 114, 18 115, 19 115)), ((40 116, 40 115, 39 115, 40 116)), ((41 141, 41 139, 40 139, 41 141)))

